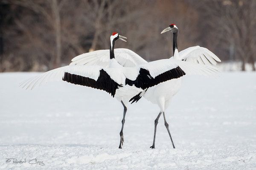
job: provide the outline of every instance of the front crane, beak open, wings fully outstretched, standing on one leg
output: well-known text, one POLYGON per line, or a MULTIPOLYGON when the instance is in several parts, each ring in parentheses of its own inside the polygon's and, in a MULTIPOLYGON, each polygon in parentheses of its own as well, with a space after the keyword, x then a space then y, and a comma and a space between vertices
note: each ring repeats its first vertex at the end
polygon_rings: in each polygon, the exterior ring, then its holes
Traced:
MULTIPOLYGON (((125 37, 116 32, 111 35, 111 45, 107 59, 108 67, 97 65, 96 63, 92 66, 90 64, 81 65, 81 63, 73 62, 70 65, 47 71, 44 74, 26 80, 21 83, 21 86, 26 89, 32 89, 35 86, 49 81, 66 81, 72 84, 107 91, 124 106, 119 144, 119 148, 122 148, 122 131, 127 111, 126 105, 134 96, 144 94, 148 88, 158 85, 161 82, 177 79, 185 74, 212 74, 218 71, 218 69, 211 66, 190 64, 188 62, 170 59, 145 62, 143 64, 134 65, 133 67, 123 67, 116 60, 114 52, 115 41, 118 39, 123 40, 123 38, 125 37)), ((95 51, 92 53, 94 52, 95 51)), ((143 61, 143 59, 137 60, 143 61)))

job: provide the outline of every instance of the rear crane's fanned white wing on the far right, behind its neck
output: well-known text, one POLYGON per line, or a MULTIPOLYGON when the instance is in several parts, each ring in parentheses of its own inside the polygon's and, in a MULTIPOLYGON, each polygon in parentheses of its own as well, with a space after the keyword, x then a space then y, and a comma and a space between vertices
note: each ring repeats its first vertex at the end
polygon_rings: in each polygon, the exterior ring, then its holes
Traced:
POLYGON ((179 52, 179 59, 187 62, 195 62, 204 65, 216 65, 221 60, 207 48, 194 46, 179 52))

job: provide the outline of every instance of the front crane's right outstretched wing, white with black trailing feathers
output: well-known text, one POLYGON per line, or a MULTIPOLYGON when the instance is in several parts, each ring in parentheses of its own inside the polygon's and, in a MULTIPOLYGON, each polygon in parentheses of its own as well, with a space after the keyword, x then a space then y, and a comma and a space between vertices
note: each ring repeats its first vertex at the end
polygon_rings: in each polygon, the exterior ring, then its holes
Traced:
POLYGON ((135 67, 138 70, 132 74, 131 69, 124 68, 125 84, 135 85, 137 88, 146 88, 158 85, 161 82, 166 82, 171 79, 178 79, 185 75, 212 75, 219 70, 210 65, 202 65, 197 63, 185 62, 177 59, 160 59, 153 62, 148 62, 135 67), (131 78, 128 78, 131 77, 131 78))

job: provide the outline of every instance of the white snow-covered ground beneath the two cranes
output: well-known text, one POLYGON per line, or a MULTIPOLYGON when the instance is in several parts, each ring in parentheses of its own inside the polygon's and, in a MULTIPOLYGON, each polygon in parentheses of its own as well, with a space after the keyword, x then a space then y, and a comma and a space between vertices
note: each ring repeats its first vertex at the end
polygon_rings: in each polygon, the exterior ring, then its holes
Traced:
POLYGON ((116 99, 65 82, 18 87, 36 74, 0 74, 1 170, 256 170, 256 73, 183 79, 166 111, 177 148, 161 116, 153 150, 156 105, 128 107, 121 150, 116 99))

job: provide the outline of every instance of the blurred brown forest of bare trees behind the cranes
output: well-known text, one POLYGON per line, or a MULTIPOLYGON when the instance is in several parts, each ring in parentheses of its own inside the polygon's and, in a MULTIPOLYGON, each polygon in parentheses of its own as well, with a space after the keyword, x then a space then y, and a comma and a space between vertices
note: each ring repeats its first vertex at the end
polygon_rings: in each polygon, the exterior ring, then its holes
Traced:
POLYGON ((179 51, 200 45, 222 61, 255 71, 256 0, 0 0, 0 72, 47 71, 73 57, 109 48, 113 31, 151 61, 172 56, 175 23, 179 51))

